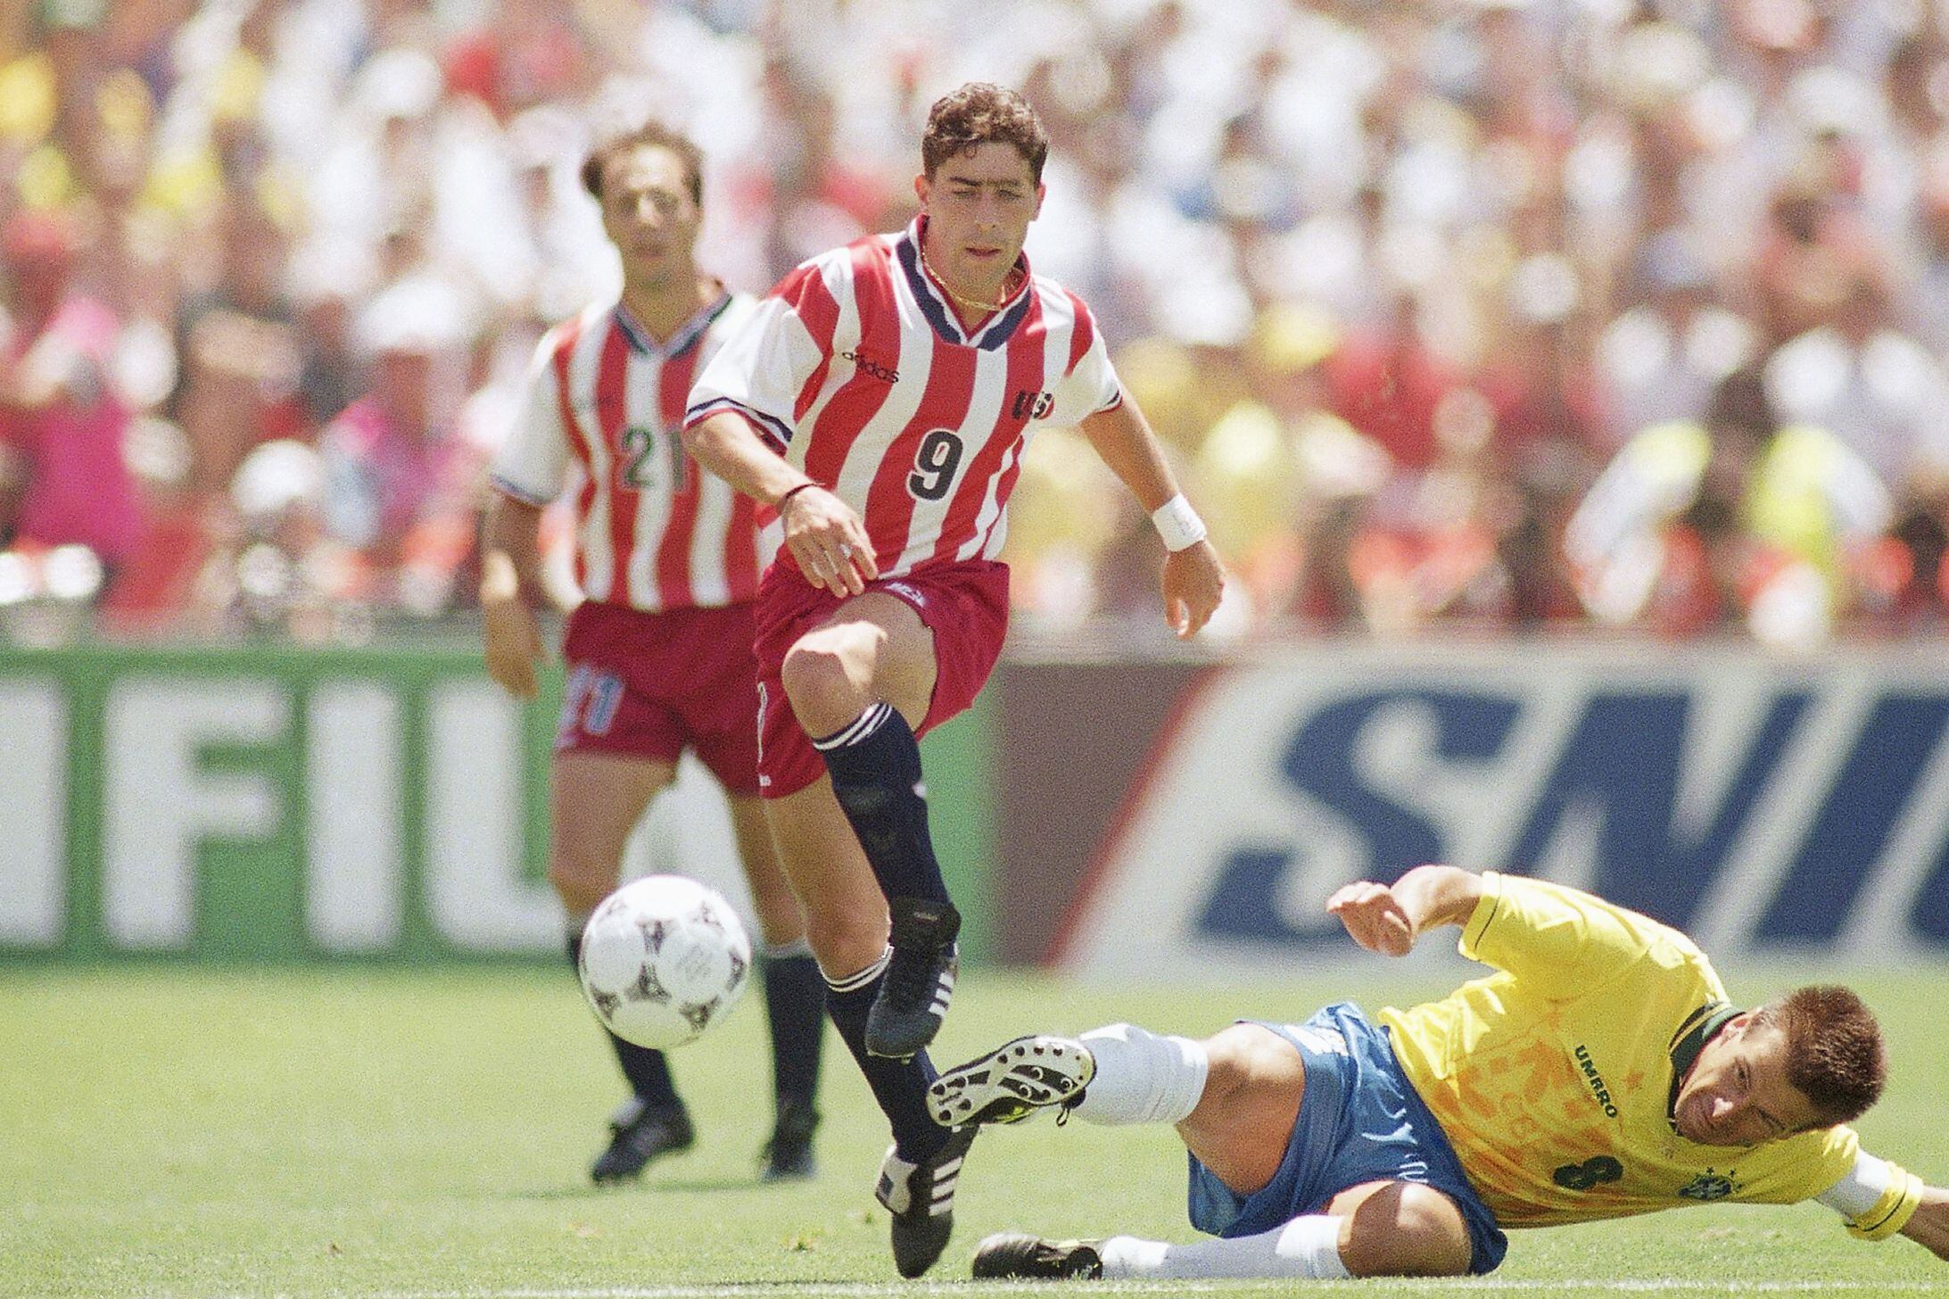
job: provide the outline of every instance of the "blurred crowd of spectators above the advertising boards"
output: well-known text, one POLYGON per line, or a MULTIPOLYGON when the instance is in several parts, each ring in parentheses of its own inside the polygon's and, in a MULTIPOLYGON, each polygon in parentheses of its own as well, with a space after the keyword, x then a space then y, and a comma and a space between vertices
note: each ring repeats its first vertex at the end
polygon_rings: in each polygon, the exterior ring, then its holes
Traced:
MULTIPOLYGON (((591 133, 704 146, 762 291, 912 215, 963 80, 1052 137, 1082 293, 1234 636, 1949 609, 1937 0, 0 0, 0 626, 359 640, 472 599, 534 339, 620 283, 591 133)), ((1025 626, 1156 618, 1037 437, 1025 626)))

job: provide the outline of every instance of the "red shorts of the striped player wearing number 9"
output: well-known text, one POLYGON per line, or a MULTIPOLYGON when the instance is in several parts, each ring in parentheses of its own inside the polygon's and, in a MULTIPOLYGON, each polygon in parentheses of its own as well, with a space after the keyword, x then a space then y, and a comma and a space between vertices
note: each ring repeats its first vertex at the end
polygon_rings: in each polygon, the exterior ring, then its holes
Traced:
MULTIPOLYGON (((1008 566, 994 560, 934 564, 900 577, 869 581, 912 605, 934 632, 934 698, 916 735, 963 712, 980 694, 1008 636, 1008 566)), ((848 597, 856 599, 856 597, 848 597)), ((801 636, 842 603, 815 587, 782 556, 758 583, 758 794, 789 798, 826 774, 826 763, 791 712, 780 671, 801 636)))

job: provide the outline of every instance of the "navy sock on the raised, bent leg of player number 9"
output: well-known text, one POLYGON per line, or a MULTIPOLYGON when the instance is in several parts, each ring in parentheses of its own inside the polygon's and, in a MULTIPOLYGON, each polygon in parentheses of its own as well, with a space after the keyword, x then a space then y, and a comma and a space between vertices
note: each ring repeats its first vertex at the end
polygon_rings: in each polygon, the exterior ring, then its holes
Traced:
POLYGON ((920 782, 920 741, 900 710, 877 702, 813 747, 832 772, 832 794, 852 821, 879 891, 947 903, 947 882, 928 835, 928 796, 920 782))

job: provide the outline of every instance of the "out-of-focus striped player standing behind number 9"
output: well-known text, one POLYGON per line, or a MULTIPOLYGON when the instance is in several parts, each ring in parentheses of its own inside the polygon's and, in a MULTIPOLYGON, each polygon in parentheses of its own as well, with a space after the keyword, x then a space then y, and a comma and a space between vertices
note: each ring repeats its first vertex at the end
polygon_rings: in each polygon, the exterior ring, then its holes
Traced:
MULTIPOLYGON (((756 304, 698 273, 702 158, 682 135, 645 123, 604 138, 583 164, 583 185, 602 207, 624 289, 548 332, 526 412, 493 462, 481 540, 487 669, 534 698, 540 517, 573 468, 585 601, 563 646, 548 872, 567 909, 569 960, 581 958, 583 925, 616 887, 631 827, 670 784, 682 751, 696 751, 729 796, 764 942, 778 1102, 764 1176, 803 1178, 819 1122, 824 981, 758 802, 758 511, 700 472, 678 437, 698 367, 756 304)), ((663 1053, 610 1040, 631 1094, 591 1168, 596 1182, 631 1178, 694 1141, 663 1053)))

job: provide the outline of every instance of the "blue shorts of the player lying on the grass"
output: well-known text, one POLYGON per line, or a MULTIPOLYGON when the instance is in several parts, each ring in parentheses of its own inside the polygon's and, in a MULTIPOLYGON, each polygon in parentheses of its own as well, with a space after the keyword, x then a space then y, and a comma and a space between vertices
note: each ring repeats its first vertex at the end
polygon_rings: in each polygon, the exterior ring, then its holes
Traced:
POLYGON ((1470 1272, 1493 1272, 1509 1237, 1481 1201, 1440 1123, 1394 1059, 1388 1032, 1351 1001, 1335 1003, 1304 1026, 1267 1024, 1300 1049, 1306 1094, 1279 1172, 1259 1192, 1240 1196, 1191 1157, 1191 1225, 1216 1237, 1255 1237, 1304 1213, 1323 1213, 1349 1186, 1421 1182, 1462 1209, 1471 1248, 1470 1272))

